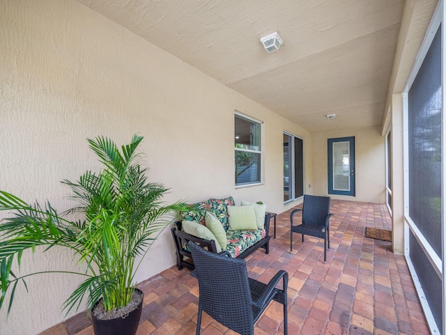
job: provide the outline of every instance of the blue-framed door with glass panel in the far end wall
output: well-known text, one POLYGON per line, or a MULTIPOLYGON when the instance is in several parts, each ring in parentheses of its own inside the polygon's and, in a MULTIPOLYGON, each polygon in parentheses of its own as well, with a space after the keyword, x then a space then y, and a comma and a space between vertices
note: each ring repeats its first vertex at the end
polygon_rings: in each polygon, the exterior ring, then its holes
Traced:
POLYGON ((355 196, 355 137, 328 139, 328 194, 355 196))

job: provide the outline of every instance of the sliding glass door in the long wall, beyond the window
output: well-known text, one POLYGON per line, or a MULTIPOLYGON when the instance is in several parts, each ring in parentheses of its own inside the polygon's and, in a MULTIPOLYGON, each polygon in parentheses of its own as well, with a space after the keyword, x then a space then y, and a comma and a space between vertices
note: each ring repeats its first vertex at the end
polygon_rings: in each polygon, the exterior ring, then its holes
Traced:
POLYGON ((284 132, 284 203, 304 195, 304 141, 284 132))

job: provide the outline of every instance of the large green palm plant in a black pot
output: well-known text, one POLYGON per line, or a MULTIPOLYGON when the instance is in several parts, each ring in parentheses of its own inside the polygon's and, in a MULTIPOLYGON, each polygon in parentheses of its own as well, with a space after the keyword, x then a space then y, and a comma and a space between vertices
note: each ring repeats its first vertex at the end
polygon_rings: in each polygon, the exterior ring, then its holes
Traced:
POLYGON ((164 205, 161 198, 168 189, 148 181, 147 169, 140 166, 140 155, 136 153, 142 139, 135 135, 121 151, 106 137, 89 139, 89 147, 104 169, 99 173, 86 171, 77 182, 63 180, 72 190, 76 205, 62 214, 49 202, 31 205, 0 191, 0 210, 13 211, 0 224, 0 308, 7 291, 9 312, 17 284, 24 283, 28 276, 45 273, 15 274, 15 258, 20 265, 26 249, 66 247, 83 264, 82 270, 72 273, 85 279, 64 302, 63 309, 67 313, 78 309, 86 296, 95 334, 102 334, 101 327, 105 327, 103 334, 107 335, 136 333, 142 293, 136 288, 135 273, 162 228, 176 216, 176 211, 185 209, 178 202, 164 205), (81 219, 69 219, 79 217, 79 212, 81 219), (130 315, 129 309, 136 310, 136 315, 130 315), (122 332, 119 324, 129 320, 136 320, 135 325, 125 325, 122 332))

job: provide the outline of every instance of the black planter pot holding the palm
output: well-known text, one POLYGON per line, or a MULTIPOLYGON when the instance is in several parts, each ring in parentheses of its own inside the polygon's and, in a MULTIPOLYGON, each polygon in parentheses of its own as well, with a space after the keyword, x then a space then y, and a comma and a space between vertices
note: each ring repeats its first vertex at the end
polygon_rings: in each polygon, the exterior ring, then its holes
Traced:
MULTIPOLYGON (((139 291, 141 295, 141 290, 135 288, 135 290, 139 291)), ((134 309, 125 318, 116 318, 112 320, 98 320, 95 318, 93 313, 91 313, 91 322, 93 323, 93 332, 95 335, 134 335, 137 333, 139 320, 141 319, 141 311, 142 311, 142 299, 141 303, 138 305, 137 309, 134 309)), ((98 301, 93 306, 99 304, 101 301, 98 301)), ((93 311, 92 309, 92 311, 93 311)))

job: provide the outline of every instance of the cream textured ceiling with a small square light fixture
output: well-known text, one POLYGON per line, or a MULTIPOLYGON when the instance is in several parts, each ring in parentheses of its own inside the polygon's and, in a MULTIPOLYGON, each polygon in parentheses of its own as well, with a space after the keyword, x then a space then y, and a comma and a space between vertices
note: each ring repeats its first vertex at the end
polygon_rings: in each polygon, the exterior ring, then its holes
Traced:
POLYGON ((403 0, 77 1, 311 132, 383 120, 403 0))

